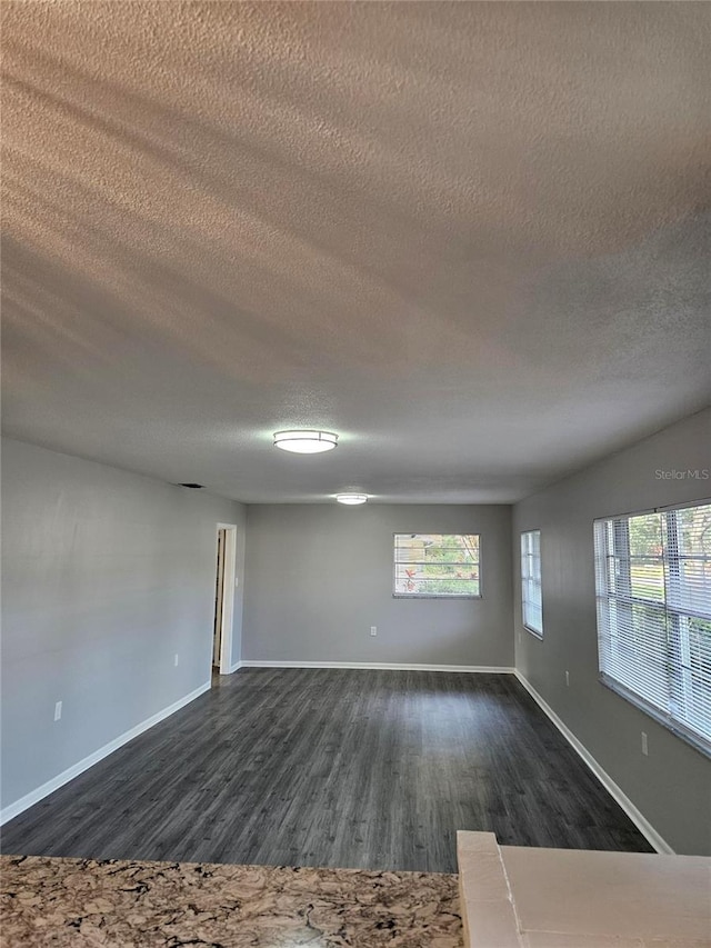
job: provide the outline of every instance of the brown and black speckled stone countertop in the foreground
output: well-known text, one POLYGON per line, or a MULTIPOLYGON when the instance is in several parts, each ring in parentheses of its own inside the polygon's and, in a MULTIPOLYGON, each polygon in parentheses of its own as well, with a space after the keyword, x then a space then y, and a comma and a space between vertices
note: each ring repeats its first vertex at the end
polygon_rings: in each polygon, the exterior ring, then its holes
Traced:
POLYGON ((0 857, 3 948, 461 948, 457 876, 0 857))

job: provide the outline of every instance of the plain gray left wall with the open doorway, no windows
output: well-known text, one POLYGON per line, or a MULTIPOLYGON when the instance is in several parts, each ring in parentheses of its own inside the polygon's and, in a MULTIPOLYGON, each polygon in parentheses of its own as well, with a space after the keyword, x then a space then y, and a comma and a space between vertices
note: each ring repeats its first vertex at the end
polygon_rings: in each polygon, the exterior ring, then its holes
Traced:
POLYGON ((241 579, 241 505, 3 439, 2 806, 209 681, 219 521, 241 579))

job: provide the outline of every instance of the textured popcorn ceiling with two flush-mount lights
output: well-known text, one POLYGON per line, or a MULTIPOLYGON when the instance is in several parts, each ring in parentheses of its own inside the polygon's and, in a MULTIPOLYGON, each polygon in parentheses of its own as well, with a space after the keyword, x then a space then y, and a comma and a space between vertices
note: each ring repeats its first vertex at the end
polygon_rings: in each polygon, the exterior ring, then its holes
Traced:
POLYGON ((710 397, 711 4, 6 2, 4 432, 511 501, 710 397), (330 455, 271 447, 340 432, 330 455))

